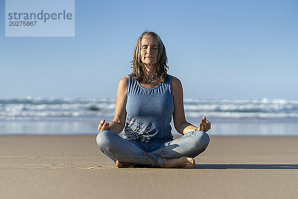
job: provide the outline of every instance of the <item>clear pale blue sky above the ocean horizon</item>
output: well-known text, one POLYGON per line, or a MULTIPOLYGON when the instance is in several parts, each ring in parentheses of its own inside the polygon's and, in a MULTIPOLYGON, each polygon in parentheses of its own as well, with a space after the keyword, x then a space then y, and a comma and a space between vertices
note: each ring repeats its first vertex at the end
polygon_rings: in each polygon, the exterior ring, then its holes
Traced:
POLYGON ((298 99, 298 1, 75 1, 75 37, 5 37, 0 97, 116 98, 146 30, 192 99, 298 99))

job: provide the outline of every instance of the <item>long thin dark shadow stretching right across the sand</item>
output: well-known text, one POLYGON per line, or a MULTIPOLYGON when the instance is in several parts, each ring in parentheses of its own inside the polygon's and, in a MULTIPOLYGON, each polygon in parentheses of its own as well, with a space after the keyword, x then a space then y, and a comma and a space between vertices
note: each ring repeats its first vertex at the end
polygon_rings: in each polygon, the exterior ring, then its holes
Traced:
POLYGON ((291 164, 196 164, 196 169, 298 169, 298 165, 291 164))

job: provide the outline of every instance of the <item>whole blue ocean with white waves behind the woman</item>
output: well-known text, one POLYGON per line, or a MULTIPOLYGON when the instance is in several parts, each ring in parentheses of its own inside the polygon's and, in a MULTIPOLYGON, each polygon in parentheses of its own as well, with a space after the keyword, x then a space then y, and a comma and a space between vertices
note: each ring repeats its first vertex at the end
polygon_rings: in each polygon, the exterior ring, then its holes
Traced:
MULTIPOLYGON (((116 99, 2 97, 0 134, 96 134, 115 106, 116 99)), ((184 99, 184 109, 195 126, 205 115, 210 135, 298 135, 298 100, 184 99)))

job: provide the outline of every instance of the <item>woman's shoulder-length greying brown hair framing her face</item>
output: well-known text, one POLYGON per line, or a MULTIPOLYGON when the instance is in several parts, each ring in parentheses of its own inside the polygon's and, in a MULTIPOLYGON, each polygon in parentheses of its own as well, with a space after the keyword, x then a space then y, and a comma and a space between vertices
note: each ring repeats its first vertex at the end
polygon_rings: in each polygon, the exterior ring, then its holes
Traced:
POLYGON ((156 62, 157 77, 159 78, 161 83, 164 83, 167 80, 166 72, 169 69, 169 67, 166 65, 167 57, 166 57, 165 47, 160 37, 158 36, 158 34, 151 31, 149 32, 149 30, 144 31, 136 43, 136 47, 133 55, 133 61, 132 61, 133 66, 131 67, 133 68, 134 71, 131 73, 131 76, 139 82, 145 79, 145 76, 143 73, 143 66, 145 66, 145 64, 141 61, 141 41, 142 41, 142 38, 145 36, 152 36, 157 39, 157 45, 158 45, 158 56, 157 56, 157 62, 156 62))

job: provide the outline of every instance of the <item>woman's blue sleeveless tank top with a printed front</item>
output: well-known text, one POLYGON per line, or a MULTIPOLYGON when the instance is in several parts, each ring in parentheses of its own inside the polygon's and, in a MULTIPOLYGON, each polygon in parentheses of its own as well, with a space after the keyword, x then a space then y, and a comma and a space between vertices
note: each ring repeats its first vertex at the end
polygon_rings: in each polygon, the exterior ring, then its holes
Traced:
POLYGON ((131 75, 127 88, 126 124, 123 138, 156 143, 173 138, 170 125, 174 111, 172 76, 146 89, 131 75))

